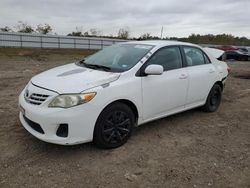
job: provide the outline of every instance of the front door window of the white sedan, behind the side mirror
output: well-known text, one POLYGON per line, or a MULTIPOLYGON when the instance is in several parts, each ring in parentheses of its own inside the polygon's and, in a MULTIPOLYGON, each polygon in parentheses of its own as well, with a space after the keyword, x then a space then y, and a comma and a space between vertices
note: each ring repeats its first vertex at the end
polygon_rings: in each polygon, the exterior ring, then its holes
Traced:
POLYGON ((148 65, 162 65, 164 71, 182 67, 181 52, 178 47, 167 47, 157 51, 148 61, 148 65))

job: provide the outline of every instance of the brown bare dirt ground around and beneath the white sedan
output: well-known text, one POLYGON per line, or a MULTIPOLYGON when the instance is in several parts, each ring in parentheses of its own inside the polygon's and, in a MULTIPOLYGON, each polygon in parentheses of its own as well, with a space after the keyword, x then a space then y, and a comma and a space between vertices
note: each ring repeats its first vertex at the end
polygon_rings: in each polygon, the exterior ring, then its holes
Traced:
POLYGON ((250 187, 250 62, 229 62, 218 112, 145 124, 118 149, 31 136, 18 120, 20 91, 33 75, 88 53, 0 49, 0 187, 250 187))

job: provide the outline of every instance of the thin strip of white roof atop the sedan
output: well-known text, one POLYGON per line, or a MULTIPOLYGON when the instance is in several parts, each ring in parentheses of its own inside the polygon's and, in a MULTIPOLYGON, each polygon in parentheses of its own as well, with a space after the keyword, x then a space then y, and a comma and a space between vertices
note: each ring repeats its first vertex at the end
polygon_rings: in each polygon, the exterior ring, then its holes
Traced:
POLYGON ((172 46, 172 45, 187 45, 187 46, 195 46, 199 47, 198 45, 187 43, 187 42, 179 42, 179 41, 173 41, 173 40, 143 40, 143 41, 131 41, 126 42, 130 44, 141 44, 141 45, 154 45, 156 47, 162 47, 162 46, 172 46))

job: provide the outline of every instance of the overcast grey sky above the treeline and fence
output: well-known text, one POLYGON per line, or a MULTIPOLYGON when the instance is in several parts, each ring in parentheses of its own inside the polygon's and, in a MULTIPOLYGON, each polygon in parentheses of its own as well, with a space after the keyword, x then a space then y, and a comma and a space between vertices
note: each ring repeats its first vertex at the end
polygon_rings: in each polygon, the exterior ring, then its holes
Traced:
POLYGON ((85 32, 131 37, 233 34, 250 38, 250 0, 1 0, 0 27, 18 21, 33 27, 48 23, 53 33, 85 32))

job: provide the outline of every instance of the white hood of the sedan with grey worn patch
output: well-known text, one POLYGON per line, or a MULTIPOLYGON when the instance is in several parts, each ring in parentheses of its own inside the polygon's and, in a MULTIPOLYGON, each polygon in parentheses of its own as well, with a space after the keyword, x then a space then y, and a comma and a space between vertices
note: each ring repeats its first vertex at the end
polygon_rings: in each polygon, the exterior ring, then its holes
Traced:
POLYGON ((60 94, 80 93, 86 89, 115 81, 119 76, 120 73, 93 70, 72 63, 40 73, 34 76, 31 82, 60 94))

